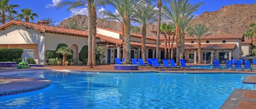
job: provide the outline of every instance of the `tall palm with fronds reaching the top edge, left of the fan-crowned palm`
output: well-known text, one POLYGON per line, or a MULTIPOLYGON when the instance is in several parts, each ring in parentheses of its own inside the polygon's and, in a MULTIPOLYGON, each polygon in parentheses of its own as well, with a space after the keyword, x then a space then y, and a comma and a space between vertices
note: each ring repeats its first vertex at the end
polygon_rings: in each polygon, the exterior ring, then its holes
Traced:
POLYGON ((193 17, 192 12, 196 11, 198 7, 200 7, 200 5, 202 5, 203 3, 193 5, 188 3, 188 0, 179 0, 179 1, 168 0, 168 3, 169 3, 170 9, 167 7, 164 7, 164 13, 165 13, 165 17, 171 20, 172 22, 174 22, 175 24, 176 63, 179 65, 180 49, 184 49, 184 48, 181 48, 183 44, 183 42, 181 42, 182 41, 181 26, 186 27, 185 24, 187 24, 187 21, 188 21, 187 18, 190 18, 189 16, 193 17))

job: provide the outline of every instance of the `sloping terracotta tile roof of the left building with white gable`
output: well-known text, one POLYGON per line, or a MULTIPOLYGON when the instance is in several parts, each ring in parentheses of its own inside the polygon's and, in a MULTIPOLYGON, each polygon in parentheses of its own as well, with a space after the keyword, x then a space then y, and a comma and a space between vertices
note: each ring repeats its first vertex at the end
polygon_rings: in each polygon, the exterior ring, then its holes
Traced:
POLYGON ((23 21, 11 21, 11 22, 5 23, 4 25, 0 26, 0 29, 3 29, 11 24, 21 25, 25 28, 38 30, 41 33, 55 33, 55 34, 87 37, 87 31, 74 30, 74 29, 68 29, 68 28, 62 28, 62 27, 54 27, 54 26, 50 26, 50 25, 37 24, 37 23, 31 23, 31 22, 23 22, 23 21))

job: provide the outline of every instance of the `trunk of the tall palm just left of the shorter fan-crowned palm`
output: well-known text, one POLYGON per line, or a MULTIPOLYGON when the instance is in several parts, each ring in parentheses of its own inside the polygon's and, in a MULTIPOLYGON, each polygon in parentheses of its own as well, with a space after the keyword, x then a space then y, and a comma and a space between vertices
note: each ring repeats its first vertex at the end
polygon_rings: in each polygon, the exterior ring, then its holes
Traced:
POLYGON ((178 25, 176 25, 175 31, 176 31, 176 65, 180 66, 181 36, 180 36, 180 27, 178 27, 178 25))

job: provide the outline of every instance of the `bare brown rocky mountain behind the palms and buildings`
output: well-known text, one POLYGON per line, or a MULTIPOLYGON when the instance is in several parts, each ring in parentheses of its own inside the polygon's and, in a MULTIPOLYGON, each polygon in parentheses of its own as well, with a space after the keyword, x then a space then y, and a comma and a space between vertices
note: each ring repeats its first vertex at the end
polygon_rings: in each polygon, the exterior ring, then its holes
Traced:
MULTIPOLYGON (((87 16, 76 15, 59 23, 59 27, 67 27, 68 22, 76 21, 79 27, 87 27, 87 16)), ((242 34, 249 28, 249 24, 256 23, 256 3, 233 4, 222 7, 218 11, 204 12, 200 16, 194 18, 191 24, 202 23, 210 27, 212 34, 242 34)), ((108 28, 113 30, 122 30, 122 23, 116 21, 108 21, 97 18, 97 27, 108 28)), ((156 30, 155 24, 148 25, 147 35, 152 36, 152 30, 156 30)))

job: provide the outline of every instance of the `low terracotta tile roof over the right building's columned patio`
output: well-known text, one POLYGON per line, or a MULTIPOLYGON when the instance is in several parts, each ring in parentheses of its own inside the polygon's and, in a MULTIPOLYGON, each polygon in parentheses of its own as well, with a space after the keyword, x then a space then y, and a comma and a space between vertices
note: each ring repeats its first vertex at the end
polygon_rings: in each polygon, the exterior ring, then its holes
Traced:
MULTIPOLYGON (((164 47, 164 44, 161 44, 160 46, 164 47)), ((201 50, 232 50, 232 49, 235 49, 235 47, 236 47, 235 43, 201 44, 201 50)), ((176 44, 174 44, 174 48, 176 48, 176 44)), ((198 44, 185 44, 185 49, 197 50, 198 44)))

